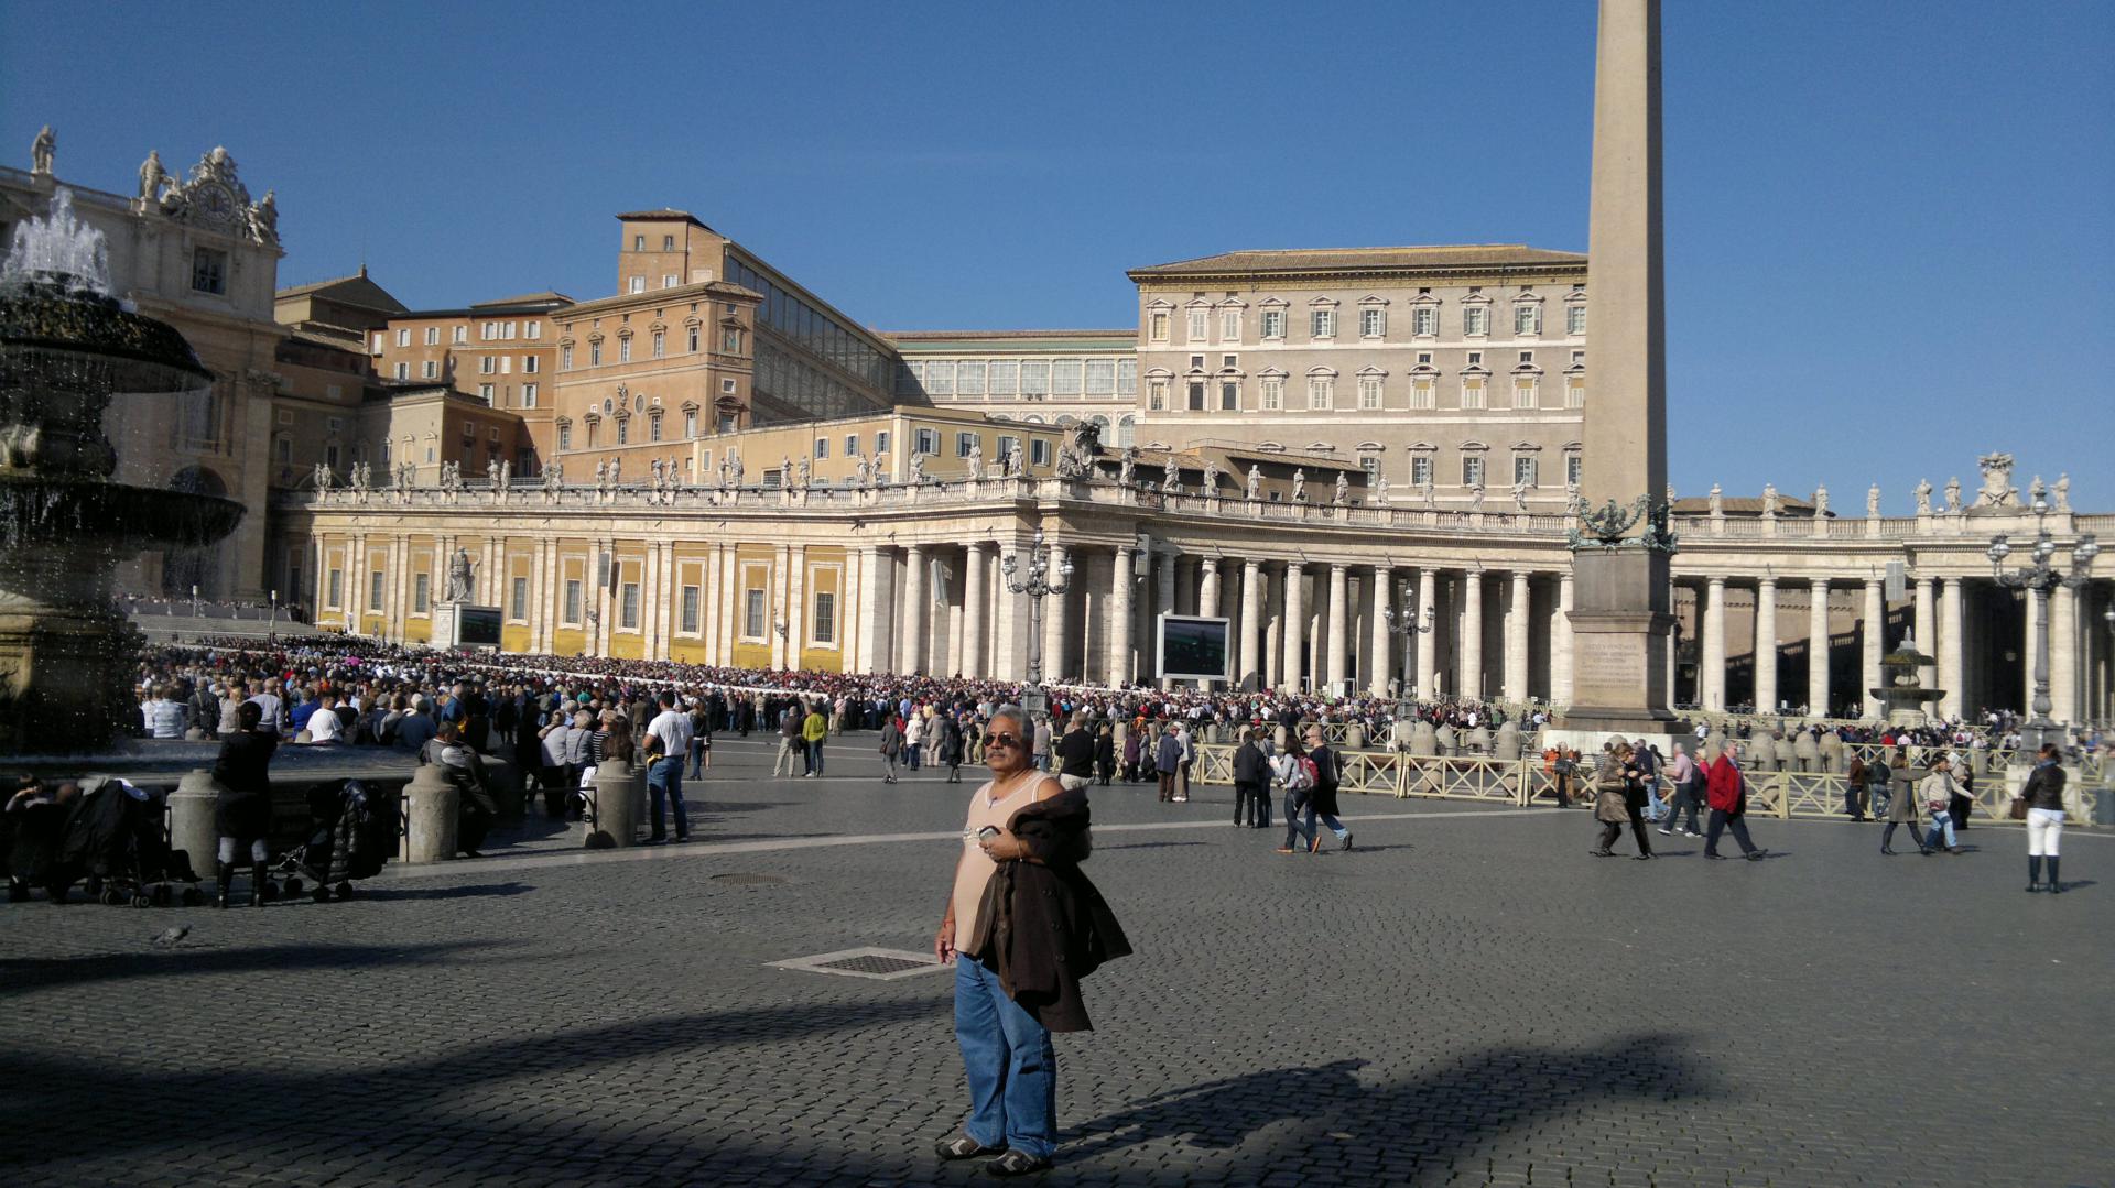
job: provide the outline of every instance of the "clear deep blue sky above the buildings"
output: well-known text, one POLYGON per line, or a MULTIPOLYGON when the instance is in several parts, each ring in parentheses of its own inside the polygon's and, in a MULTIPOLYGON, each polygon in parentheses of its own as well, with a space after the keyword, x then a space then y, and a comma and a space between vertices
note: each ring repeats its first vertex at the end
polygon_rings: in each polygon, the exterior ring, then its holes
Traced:
MULTIPOLYGON (((675 205, 884 330, 1125 326, 1231 247, 1586 247, 1593 4, 0 0, 0 163, 214 144, 281 283, 615 285, 675 205)), ((1975 454, 2115 509, 2115 4, 1665 13, 1671 474, 1889 512, 1975 454)))

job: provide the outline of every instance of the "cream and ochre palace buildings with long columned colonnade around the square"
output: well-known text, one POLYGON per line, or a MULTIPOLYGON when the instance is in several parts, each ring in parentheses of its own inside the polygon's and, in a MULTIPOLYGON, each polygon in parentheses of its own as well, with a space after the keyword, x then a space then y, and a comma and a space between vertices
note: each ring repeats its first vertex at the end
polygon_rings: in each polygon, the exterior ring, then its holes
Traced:
MULTIPOLYGON (((0 235, 57 184, 0 169, 0 235)), ((118 294, 220 376, 112 412, 146 446, 125 478, 250 507, 140 592, 421 643, 461 552, 505 651, 1024 679, 1003 558, 1041 531, 1070 564, 1053 681, 1151 679, 1178 611, 1233 621, 1246 685, 1569 700, 1582 254, 1227 252, 1132 268, 1125 326, 893 334, 681 209, 615 216, 605 294, 415 311, 366 268, 279 287, 273 197, 224 150, 74 192, 118 294)), ((1992 537, 2033 547, 2035 469, 2056 564, 2115 537, 2058 463, 1935 459, 1910 516, 1859 476, 1681 493, 1675 700, 1857 714, 1914 634, 1944 712, 2024 708, 2033 613, 1992 537)), ((2049 596, 2054 717, 2107 721, 2115 558, 2083 571, 2049 596)))

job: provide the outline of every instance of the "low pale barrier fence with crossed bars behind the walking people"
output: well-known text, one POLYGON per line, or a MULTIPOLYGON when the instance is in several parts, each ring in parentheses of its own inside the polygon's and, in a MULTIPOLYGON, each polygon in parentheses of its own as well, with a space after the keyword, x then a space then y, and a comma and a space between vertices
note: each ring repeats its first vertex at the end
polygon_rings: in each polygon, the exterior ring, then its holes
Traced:
MULTIPOLYGON (((1193 784, 1233 784, 1233 744, 1199 742, 1193 784)), ((1557 778, 1542 757, 1489 759, 1478 755, 1402 755, 1396 750, 1339 750, 1341 793, 1426 797, 1445 801, 1483 801, 1531 805, 1557 795, 1557 778)), ((1774 818, 1844 818, 1851 782, 1840 772, 1743 772, 1747 776, 1747 812, 1774 818)), ((1584 795, 1586 782, 1574 788, 1584 795)), ((1893 795, 1916 795, 1910 780, 1895 780, 1893 795)), ((2007 818, 2011 791, 2003 778, 1982 780, 1973 791, 1973 810, 1982 822, 2013 824, 2007 818)), ((2073 780, 2064 788, 2066 816, 2073 824, 2109 824, 2115 820, 2115 788, 2073 780)))

